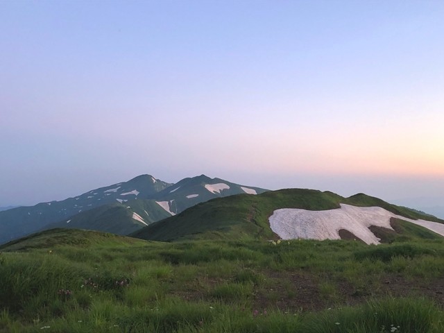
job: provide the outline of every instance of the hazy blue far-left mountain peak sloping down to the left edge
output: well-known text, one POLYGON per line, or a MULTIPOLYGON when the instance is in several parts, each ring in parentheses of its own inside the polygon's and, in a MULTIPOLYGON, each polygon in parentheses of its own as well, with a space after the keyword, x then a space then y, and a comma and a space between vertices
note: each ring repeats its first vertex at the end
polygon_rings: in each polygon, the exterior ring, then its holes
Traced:
POLYGON ((128 182, 93 189, 74 198, 5 210, 0 212, 0 244, 42 230, 50 223, 69 219, 96 207, 150 198, 170 186, 168 182, 155 179, 153 176, 142 175, 128 182))

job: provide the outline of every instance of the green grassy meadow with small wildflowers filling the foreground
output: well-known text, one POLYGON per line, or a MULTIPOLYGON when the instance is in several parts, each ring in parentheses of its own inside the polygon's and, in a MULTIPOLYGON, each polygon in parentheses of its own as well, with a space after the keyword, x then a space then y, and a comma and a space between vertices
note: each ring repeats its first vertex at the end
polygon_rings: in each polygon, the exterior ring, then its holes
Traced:
POLYGON ((0 247, 0 332, 444 332, 443 240, 389 237, 49 230, 0 247))

